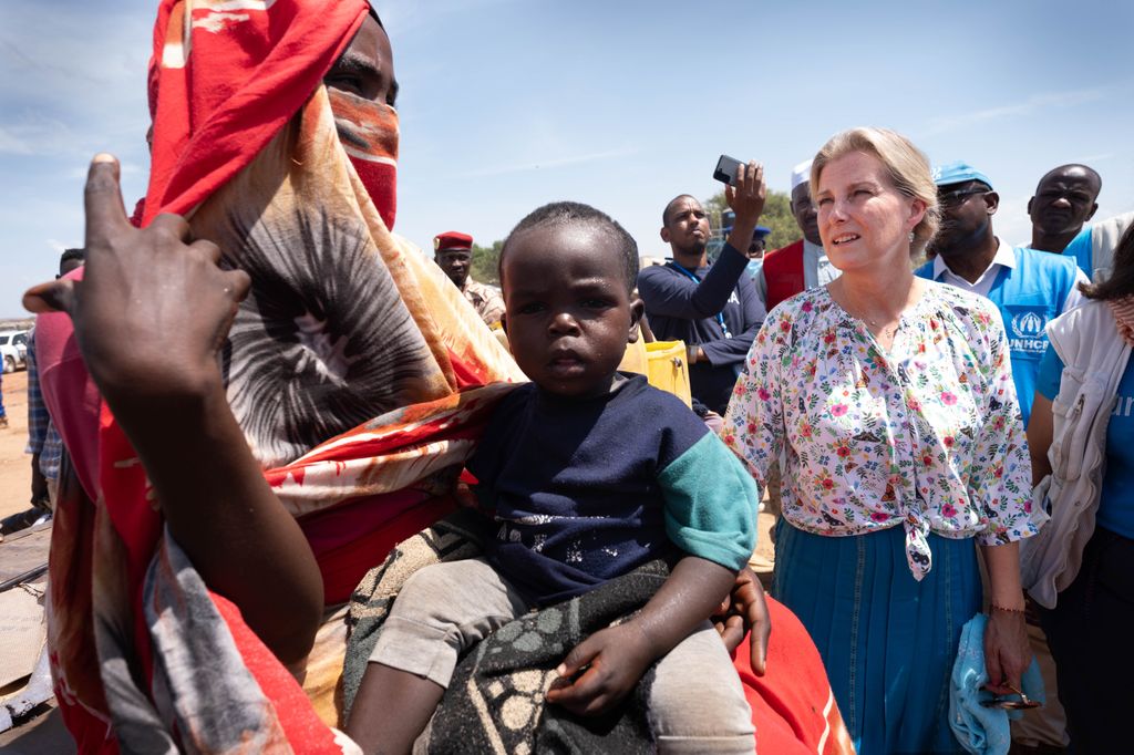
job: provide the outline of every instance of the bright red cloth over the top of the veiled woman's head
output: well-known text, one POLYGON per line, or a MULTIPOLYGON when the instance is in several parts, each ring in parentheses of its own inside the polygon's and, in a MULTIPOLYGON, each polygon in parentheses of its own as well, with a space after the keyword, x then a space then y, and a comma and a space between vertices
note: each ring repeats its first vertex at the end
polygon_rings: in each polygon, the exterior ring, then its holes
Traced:
POLYGON ((307 101, 371 8, 365 0, 162 0, 150 59, 154 137, 143 224, 188 214, 307 101), (220 32, 193 33, 196 29, 220 32), (206 65, 197 65, 206 61, 206 65))

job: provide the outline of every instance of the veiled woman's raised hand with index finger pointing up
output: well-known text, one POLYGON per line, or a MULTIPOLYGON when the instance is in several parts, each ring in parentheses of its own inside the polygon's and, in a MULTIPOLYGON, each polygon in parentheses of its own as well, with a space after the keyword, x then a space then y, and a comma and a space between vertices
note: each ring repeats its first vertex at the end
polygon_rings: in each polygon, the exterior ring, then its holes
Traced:
POLYGON ((91 162, 85 209, 83 280, 32 288, 24 306, 71 315, 87 370, 116 414, 125 408, 117 404, 213 388, 217 354, 248 292, 248 275, 221 270, 214 244, 188 243, 189 226, 179 215, 132 226, 118 161, 109 154, 91 162))

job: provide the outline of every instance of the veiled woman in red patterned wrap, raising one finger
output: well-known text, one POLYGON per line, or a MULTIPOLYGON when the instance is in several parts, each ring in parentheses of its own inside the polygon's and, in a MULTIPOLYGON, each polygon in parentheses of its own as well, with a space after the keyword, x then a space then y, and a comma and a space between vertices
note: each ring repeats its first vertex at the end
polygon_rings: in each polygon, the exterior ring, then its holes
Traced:
POLYGON ((100 155, 85 279, 27 299, 77 337, 42 316, 82 482, 57 512, 49 616, 84 752, 337 750, 277 659, 302 664, 324 604, 451 510, 507 387, 464 389, 519 375, 389 231, 397 83, 373 10, 229 6, 162 2, 143 228, 100 155))

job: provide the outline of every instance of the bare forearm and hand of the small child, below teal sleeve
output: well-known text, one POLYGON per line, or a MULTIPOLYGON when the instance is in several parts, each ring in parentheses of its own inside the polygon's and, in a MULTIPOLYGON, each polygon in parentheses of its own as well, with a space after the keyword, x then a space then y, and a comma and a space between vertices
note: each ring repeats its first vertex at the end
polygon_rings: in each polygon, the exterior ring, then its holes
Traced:
POLYGON ((654 660, 720 606, 735 578, 730 569, 686 555, 638 616, 594 633, 567 654, 558 669, 561 679, 548 692, 548 702, 579 715, 610 710, 634 689, 654 660))

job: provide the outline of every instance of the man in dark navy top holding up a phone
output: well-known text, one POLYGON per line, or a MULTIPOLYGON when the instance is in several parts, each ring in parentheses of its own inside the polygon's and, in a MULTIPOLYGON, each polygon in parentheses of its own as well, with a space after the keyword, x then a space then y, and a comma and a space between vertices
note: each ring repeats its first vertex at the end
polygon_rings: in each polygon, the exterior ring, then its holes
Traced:
POLYGON ((717 262, 709 265, 709 215, 695 197, 683 194, 666 205, 661 239, 672 258, 638 273, 638 294, 659 340, 688 347, 689 387, 695 402, 723 414, 733 385, 764 321, 764 307, 752 279, 744 274, 756 221, 764 209, 764 171, 737 164, 725 187, 736 213, 733 230, 717 262))

